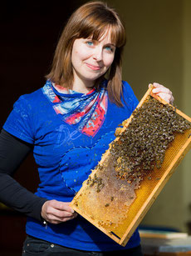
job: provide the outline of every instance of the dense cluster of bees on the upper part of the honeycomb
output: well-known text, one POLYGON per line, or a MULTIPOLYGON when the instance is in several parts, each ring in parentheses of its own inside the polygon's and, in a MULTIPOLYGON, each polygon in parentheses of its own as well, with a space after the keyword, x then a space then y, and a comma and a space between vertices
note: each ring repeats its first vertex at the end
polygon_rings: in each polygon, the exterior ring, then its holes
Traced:
POLYGON ((119 139, 110 149, 117 177, 129 183, 143 179, 154 167, 161 168, 165 151, 176 133, 191 128, 191 123, 176 113, 174 107, 151 96, 135 109, 133 116, 129 127, 115 134, 119 139))

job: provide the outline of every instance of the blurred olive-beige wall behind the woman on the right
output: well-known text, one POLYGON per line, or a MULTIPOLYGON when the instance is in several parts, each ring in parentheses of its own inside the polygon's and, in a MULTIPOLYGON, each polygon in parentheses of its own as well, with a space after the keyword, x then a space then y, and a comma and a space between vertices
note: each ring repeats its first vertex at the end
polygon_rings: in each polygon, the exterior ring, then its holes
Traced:
MULTIPOLYGON (((140 99, 150 82, 163 83, 174 93, 175 104, 190 115, 191 1, 107 0, 125 21, 128 43, 123 78, 140 99)), ((190 153, 160 193, 144 224, 185 230, 191 220, 190 153), (189 217, 190 216, 190 217, 189 217)))

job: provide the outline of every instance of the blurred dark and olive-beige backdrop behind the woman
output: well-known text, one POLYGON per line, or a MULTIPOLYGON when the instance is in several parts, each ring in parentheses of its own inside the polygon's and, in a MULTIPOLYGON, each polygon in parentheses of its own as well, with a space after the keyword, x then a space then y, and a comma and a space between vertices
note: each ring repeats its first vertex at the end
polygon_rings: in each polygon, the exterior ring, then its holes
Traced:
MULTIPOLYGON (((71 13, 88 1, 1 4, 0 70, 2 128, 13 103, 45 83, 56 43, 71 13)), ((191 116, 191 1, 107 0, 125 22, 127 44, 123 79, 139 100, 149 83, 164 84, 175 105, 191 116)), ((141 224, 191 232, 191 154, 176 169, 141 224)), ((37 167, 32 155, 15 178, 35 192, 37 167)), ((26 218, 0 204, 0 255, 21 255, 26 218)))

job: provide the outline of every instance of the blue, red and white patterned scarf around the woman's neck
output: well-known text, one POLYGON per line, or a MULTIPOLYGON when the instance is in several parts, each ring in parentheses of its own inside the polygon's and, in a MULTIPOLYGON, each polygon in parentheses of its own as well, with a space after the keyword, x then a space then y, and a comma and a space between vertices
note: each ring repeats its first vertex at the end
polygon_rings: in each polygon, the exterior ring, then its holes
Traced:
POLYGON ((94 137, 105 120, 108 104, 106 81, 100 90, 93 88, 89 93, 77 93, 50 80, 42 88, 61 120, 72 125, 80 133, 94 137))

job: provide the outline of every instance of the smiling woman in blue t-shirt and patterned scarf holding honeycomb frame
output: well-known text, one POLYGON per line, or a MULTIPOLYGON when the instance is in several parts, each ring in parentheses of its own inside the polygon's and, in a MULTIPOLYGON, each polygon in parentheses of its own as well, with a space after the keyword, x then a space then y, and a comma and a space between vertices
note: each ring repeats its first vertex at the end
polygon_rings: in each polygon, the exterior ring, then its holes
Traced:
MULTIPOLYGON (((22 255, 142 255, 137 230, 123 248, 69 207, 138 104, 121 82, 124 46, 125 28, 113 9, 81 6, 61 34, 47 83, 20 97, 3 126, 0 199, 28 216, 22 255), (11 177, 31 150, 40 177, 35 194, 11 177)), ((154 93, 173 101, 169 89, 154 85, 154 93)))

